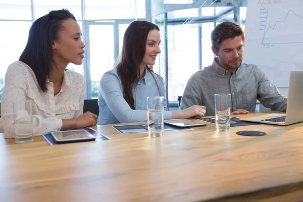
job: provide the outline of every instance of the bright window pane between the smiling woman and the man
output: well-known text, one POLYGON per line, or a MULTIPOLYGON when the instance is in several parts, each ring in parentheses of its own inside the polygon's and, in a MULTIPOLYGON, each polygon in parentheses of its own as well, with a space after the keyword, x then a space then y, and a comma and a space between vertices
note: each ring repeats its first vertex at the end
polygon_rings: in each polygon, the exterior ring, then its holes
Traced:
POLYGON ((168 26, 168 94, 176 100, 189 77, 198 70, 198 26, 168 26))

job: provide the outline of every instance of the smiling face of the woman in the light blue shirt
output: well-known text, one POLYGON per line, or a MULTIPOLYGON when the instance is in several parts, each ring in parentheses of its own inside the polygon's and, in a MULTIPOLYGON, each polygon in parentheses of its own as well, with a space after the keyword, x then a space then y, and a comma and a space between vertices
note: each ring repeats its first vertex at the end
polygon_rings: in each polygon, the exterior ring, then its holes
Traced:
POLYGON ((160 42, 160 32, 157 29, 150 30, 146 39, 145 55, 142 64, 155 65, 157 55, 161 53, 160 42))

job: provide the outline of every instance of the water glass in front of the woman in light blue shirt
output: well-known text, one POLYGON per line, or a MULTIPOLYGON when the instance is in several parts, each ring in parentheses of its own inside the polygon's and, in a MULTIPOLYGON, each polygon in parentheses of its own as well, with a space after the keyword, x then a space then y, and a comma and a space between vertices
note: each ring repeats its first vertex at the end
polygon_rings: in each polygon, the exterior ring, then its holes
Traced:
POLYGON ((164 96, 147 97, 149 137, 161 137, 164 130, 164 96))

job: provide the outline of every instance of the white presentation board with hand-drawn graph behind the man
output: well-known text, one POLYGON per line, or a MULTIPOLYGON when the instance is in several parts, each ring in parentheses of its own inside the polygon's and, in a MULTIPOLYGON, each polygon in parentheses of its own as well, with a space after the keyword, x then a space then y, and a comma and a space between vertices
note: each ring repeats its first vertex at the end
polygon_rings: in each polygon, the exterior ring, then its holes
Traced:
POLYGON ((244 63, 260 67, 277 87, 303 70, 302 0, 248 1, 244 63))

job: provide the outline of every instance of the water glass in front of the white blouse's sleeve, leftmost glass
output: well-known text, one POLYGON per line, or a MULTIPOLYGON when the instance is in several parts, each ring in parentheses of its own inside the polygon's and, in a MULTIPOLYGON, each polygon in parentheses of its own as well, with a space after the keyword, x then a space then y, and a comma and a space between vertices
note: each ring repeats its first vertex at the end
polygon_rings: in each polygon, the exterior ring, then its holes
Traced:
POLYGON ((13 107, 16 143, 32 142, 32 100, 13 102, 13 107))

